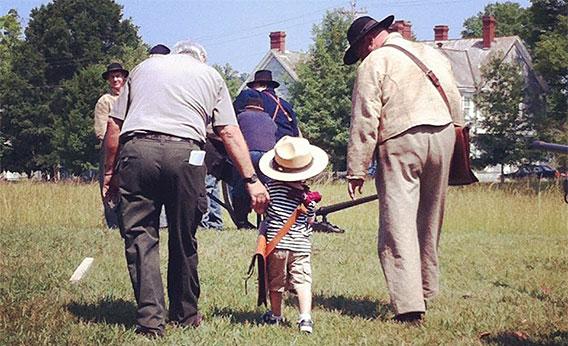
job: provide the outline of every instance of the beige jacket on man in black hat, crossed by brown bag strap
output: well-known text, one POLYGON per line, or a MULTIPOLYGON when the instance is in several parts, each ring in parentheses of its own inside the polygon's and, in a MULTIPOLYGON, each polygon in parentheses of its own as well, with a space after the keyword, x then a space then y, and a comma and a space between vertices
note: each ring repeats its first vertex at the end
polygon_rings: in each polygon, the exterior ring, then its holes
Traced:
POLYGON ((380 143, 418 125, 463 124, 461 95, 449 61, 436 49, 390 33, 396 44, 416 55, 436 74, 450 102, 450 114, 438 90, 403 52, 381 47, 357 68, 353 88, 347 176, 364 177, 380 143))

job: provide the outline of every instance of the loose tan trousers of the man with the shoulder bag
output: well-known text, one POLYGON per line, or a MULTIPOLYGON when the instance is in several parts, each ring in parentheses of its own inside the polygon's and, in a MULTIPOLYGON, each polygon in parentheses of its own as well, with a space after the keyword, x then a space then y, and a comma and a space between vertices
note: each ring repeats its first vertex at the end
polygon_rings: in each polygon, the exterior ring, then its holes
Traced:
POLYGON ((396 314, 438 292, 438 240, 454 126, 417 126, 378 147, 379 258, 396 314))

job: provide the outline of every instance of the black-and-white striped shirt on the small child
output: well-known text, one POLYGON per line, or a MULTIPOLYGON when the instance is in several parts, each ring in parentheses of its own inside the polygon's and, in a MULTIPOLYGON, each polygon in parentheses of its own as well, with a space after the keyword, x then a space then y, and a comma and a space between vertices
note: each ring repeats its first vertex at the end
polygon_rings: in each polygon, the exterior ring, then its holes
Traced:
MULTIPOLYGON (((270 181, 266 184, 270 194, 270 204, 266 210, 264 227, 267 241, 272 240, 284 226, 290 215, 304 200, 304 191, 285 182, 270 181)), ((307 214, 300 214, 288 233, 276 245, 277 249, 310 253, 312 251, 312 226, 308 219, 315 215, 315 203, 310 205, 307 214)))

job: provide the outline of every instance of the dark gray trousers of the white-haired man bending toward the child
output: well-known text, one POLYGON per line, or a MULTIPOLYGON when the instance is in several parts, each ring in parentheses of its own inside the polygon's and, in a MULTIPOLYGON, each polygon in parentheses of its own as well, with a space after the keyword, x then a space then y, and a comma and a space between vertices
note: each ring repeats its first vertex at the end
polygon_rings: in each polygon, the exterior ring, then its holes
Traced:
POLYGON ((120 151, 120 230, 138 304, 138 328, 161 331, 165 302, 160 274, 159 219, 168 220, 169 319, 190 325, 197 316, 200 287, 195 232, 207 210, 205 166, 188 163, 189 141, 134 138, 120 151))

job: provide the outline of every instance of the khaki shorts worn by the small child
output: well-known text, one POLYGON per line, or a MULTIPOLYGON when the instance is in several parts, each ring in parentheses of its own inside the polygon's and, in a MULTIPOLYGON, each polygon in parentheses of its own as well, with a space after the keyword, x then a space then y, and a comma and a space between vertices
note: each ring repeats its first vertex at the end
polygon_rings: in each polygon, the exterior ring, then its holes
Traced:
POLYGON ((295 291, 311 287, 312 265, 309 253, 274 250, 267 259, 268 289, 273 292, 295 291))

